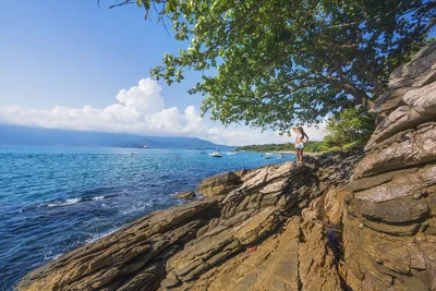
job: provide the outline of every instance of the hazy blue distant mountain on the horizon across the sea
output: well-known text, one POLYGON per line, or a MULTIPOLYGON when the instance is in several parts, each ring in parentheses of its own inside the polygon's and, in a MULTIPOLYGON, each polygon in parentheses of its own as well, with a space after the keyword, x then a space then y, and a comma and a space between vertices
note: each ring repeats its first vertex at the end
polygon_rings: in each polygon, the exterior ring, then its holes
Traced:
POLYGON ((124 133, 83 132, 0 124, 0 145, 26 146, 106 146, 135 148, 191 148, 233 150, 196 137, 144 136, 124 133))

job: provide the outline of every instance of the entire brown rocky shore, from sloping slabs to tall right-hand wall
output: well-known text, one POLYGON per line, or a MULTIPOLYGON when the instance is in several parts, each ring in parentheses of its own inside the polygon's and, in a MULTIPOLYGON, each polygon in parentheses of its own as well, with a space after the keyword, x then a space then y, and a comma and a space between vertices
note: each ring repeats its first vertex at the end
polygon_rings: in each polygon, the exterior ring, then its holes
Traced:
POLYGON ((16 290, 436 290, 436 44, 397 69, 365 151, 203 181, 16 290), (187 194, 186 194, 187 195, 187 194))

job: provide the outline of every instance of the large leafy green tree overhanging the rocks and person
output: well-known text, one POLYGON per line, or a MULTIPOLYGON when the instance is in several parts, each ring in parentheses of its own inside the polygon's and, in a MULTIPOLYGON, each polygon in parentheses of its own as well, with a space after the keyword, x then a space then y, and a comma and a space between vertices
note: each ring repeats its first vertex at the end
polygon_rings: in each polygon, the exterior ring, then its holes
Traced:
POLYGON ((179 54, 164 54, 153 76, 171 84, 186 69, 204 72, 190 90, 205 97, 203 112, 281 132, 329 112, 367 110, 436 22, 428 0, 136 2, 190 41, 179 54))

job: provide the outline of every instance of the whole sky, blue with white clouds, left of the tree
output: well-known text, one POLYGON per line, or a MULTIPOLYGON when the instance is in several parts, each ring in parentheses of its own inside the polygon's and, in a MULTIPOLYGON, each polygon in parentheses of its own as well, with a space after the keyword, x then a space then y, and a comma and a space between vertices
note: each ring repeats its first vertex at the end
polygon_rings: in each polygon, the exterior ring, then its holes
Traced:
MULTIPOLYGON (((113 0, 4 1, 0 10, 0 123, 195 136, 227 145, 287 143, 294 137, 201 117, 203 97, 186 92, 187 72, 167 86, 149 76, 177 41, 144 10, 109 10, 113 0)), ((170 24, 168 24, 170 26, 170 24)), ((170 32, 171 33, 171 32, 170 32)), ((324 124, 308 128, 324 137, 324 124)))

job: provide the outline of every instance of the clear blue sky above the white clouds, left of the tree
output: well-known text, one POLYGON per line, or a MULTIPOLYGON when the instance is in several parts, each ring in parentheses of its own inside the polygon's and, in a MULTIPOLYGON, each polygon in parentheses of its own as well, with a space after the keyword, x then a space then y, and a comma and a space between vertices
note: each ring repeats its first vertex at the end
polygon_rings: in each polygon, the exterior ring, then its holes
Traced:
MULTIPOLYGON (((148 76, 164 51, 182 45, 162 25, 144 21, 143 10, 109 10, 111 2, 101 0, 100 9, 96 0, 2 3, 1 101, 40 109, 56 101, 102 107, 120 88, 148 76)), ((168 106, 185 105, 185 98, 198 104, 201 97, 185 94, 193 82, 190 76, 166 87, 168 106)))

